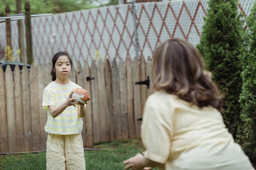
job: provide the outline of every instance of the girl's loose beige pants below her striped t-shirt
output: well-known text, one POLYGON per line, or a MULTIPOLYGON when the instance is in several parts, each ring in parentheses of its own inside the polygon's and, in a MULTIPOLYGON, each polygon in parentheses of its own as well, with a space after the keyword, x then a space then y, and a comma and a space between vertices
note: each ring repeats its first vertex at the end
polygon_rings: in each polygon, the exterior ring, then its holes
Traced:
POLYGON ((74 135, 48 134, 46 142, 48 170, 86 169, 81 133, 74 135))

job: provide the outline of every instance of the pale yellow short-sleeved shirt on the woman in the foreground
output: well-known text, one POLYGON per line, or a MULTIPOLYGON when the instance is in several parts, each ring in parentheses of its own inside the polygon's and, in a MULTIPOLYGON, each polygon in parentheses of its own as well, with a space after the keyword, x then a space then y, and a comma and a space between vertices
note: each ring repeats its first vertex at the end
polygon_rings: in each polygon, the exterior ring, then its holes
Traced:
POLYGON ((176 95, 159 91, 148 97, 141 138, 144 156, 164 169, 253 169, 218 110, 191 106, 176 95))

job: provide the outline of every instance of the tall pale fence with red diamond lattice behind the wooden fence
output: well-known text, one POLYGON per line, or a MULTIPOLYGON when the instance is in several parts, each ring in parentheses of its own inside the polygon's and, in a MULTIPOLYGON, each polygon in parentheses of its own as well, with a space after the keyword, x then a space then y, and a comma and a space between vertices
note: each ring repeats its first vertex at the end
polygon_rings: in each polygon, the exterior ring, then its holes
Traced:
MULTIPOLYGON (((239 11, 248 15, 253 2, 240 0, 239 11)), ((135 4, 139 56, 152 56, 156 46, 169 37, 198 44, 207 8, 207 0, 135 4)), ((136 56, 131 4, 36 17, 31 24, 36 64, 50 62, 58 51, 68 51, 82 65, 86 60, 136 56)), ((3 48, 4 23, 0 30, 3 48)), ((12 21, 12 47, 14 51, 18 48, 16 21, 12 21)))

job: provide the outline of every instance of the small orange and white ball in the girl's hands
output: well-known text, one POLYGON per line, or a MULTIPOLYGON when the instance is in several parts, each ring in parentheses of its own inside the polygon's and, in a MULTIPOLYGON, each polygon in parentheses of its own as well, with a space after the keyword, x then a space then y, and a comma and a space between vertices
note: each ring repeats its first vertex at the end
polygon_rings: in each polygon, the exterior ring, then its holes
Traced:
POLYGON ((79 105, 83 105, 90 100, 89 92, 83 88, 76 88, 73 90, 72 98, 76 100, 79 105))

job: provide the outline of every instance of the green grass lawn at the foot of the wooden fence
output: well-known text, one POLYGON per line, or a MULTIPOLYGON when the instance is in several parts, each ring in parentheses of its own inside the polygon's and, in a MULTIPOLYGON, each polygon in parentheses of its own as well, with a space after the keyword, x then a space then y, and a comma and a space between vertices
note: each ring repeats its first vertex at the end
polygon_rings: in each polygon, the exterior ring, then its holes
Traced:
MULTIPOLYGON (((84 151, 87 170, 124 169, 125 159, 144 150, 139 138, 95 143, 94 148, 102 150, 84 151)), ((46 153, 0 155, 0 169, 46 169, 46 153)))

